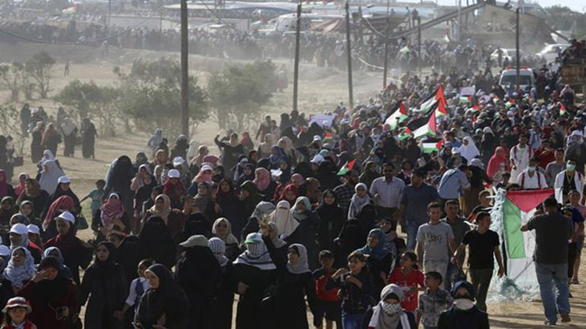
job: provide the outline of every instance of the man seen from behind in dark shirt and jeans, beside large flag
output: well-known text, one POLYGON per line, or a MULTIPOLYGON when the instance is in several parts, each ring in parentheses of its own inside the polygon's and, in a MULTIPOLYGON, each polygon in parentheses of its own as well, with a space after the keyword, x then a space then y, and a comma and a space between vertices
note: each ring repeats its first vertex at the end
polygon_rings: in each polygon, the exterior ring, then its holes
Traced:
POLYGON ((570 322, 570 289, 568 288, 568 240, 572 236, 572 220, 557 212, 557 201, 548 197, 544 201, 544 215, 536 215, 521 231, 536 230, 537 281, 545 310, 545 324, 554 325, 557 314, 562 322, 570 322), (557 297, 554 297, 554 284, 557 297), (556 305, 557 304, 557 305, 556 305))

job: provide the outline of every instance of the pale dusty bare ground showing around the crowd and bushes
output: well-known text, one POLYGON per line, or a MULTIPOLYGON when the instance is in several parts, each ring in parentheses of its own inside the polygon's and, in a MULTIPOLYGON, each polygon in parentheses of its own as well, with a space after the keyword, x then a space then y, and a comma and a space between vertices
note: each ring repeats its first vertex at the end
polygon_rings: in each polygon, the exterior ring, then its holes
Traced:
MULTIPOLYGON (((6 46, 0 45, 0 62, 23 60, 32 53, 39 51, 38 46, 18 45, 6 46)), ((177 53, 155 53, 151 51, 125 51, 112 50, 110 54, 102 56, 100 50, 73 47, 54 47, 45 46, 44 50, 50 52, 52 56, 58 59, 58 65, 54 69, 55 78, 52 83, 53 91, 59 91, 70 80, 78 78, 80 80, 94 80, 97 84, 111 84, 114 74, 112 69, 114 65, 121 66, 123 69, 128 68, 129 63, 137 57, 144 59, 157 59, 161 56, 177 58, 177 53), (72 61, 71 72, 68 78, 62 77, 63 64, 66 59, 72 61)), ((203 84, 210 71, 220 69, 224 62, 217 59, 202 59, 192 57, 190 59, 191 74, 196 74, 203 84)), ((292 76, 292 66, 287 60, 279 60, 279 63, 287 64, 290 76, 292 76)), ((343 100, 347 103, 347 85, 345 72, 334 70, 317 69, 314 66, 302 65, 299 84, 299 109, 307 113, 322 112, 325 108, 333 108, 337 102, 343 100)), ((381 84, 380 73, 356 73, 354 75, 354 99, 365 102, 369 96, 374 95, 381 84)), ((5 102, 7 93, 0 90, 0 102, 5 102)), ((265 106, 264 110, 268 114, 278 115, 282 111, 290 109, 292 99, 292 87, 280 94, 276 94, 270 105, 265 106)), ((47 100, 32 100, 32 107, 39 105, 45 106, 46 109, 53 113, 57 105, 47 100)), ((20 105, 19 105, 20 106, 20 105)), ((253 131, 253 129, 252 129, 253 131)), ((0 132, 1 133, 1 132, 0 132)), ((218 133, 218 127, 215 122, 200 124, 197 133, 192 136, 198 142, 204 143, 210 147, 212 152, 217 152, 212 145, 212 139, 218 133)), ((81 150, 76 150, 76 158, 64 158, 60 156, 60 148, 57 156, 65 172, 72 178, 72 188, 78 196, 86 196, 98 178, 104 178, 105 170, 109 163, 115 158, 127 154, 132 159, 136 152, 143 151, 145 142, 148 138, 146 133, 124 134, 116 137, 100 136, 96 142, 96 160, 80 159, 81 150)), ((169 140, 175 136, 169 136, 169 140)), ((26 141, 29 145, 30 141, 26 141)), ((28 146, 25 147, 25 165, 15 169, 18 172, 35 173, 36 168, 30 162, 28 157, 28 146)), ((88 208, 88 203, 85 205, 88 208)), ((87 230, 80 233, 84 239, 89 239, 91 233, 87 230)), ((572 324, 566 325, 576 328, 586 328, 586 270, 581 270, 581 279, 584 284, 572 286, 573 298, 572 304, 572 324)), ((539 301, 526 303, 511 304, 492 304, 489 305, 490 324, 493 328, 542 328, 543 325, 543 308, 539 301)), ((311 320, 310 320, 311 321, 311 320)), ((311 323, 311 322, 310 322, 311 323)))

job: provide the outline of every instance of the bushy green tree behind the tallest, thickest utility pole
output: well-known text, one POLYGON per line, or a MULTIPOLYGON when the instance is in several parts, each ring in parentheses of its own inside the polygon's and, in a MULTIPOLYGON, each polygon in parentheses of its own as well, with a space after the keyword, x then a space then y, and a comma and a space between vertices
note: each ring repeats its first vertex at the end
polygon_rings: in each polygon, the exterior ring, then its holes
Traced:
MULTIPOLYGON (((154 62, 135 60, 130 73, 120 69, 122 96, 120 110, 133 118, 138 129, 151 132, 161 127, 171 135, 181 130, 181 68, 176 61, 160 59, 154 62)), ((206 93, 197 86, 197 78, 189 77, 190 130, 207 118, 206 93)))

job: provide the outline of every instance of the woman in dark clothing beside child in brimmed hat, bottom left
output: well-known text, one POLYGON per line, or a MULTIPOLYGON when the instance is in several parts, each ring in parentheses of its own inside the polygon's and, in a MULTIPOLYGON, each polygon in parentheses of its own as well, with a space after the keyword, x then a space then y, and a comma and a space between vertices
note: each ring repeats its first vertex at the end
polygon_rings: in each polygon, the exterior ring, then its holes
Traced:
POLYGON ((20 296, 31 303, 29 319, 39 329, 69 329, 71 318, 79 309, 76 290, 71 279, 60 273, 59 260, 46 257, 20 296))

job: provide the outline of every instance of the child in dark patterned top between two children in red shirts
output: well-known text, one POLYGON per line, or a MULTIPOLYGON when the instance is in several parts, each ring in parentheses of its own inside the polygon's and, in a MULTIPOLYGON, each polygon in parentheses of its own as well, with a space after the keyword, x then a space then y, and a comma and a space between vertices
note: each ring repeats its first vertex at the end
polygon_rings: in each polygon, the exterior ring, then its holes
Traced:
POLYGON ((337 270, 325 283, 330 290, 340 288, 338 296, 342 299, 343 329, 362 328, 364 316, 371 306, 372 280, 367 270, 366 256, 360 251, 348 255, 348 268, 337 270))

